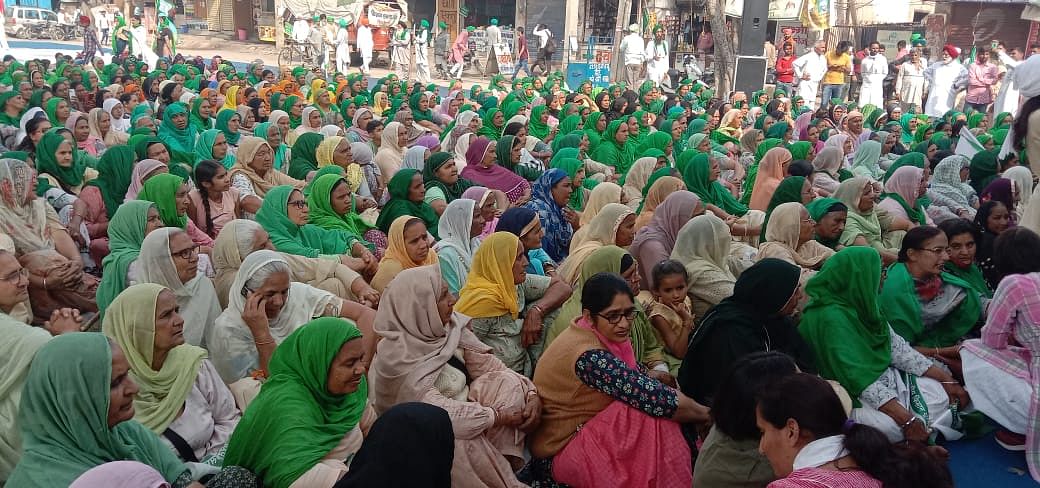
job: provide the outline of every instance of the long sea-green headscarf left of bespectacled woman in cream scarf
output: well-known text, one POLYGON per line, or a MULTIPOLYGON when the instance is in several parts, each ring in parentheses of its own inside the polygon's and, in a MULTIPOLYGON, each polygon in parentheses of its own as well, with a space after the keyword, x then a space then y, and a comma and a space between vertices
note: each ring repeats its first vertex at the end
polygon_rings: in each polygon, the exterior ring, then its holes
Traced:
POLYGON ((101 261, 104 273, 97 296, 98 310, 102 314, 127 287, 127 272, 130 263, 136 261, 140 254, 145 227, 148 226, 148 210, 153 207, 155 204, 152 202, 127 200, 108 221, 108 255, 101 261))

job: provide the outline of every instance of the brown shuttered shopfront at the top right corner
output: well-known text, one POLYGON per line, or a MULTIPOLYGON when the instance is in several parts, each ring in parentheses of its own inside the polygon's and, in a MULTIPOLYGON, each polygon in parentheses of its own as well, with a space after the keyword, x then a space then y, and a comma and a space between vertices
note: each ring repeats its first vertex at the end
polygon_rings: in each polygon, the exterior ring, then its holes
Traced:
POLYGON ((970 50, 972 41, 976 46, 988 47, 990 42, 999 40, 1009 48, 1026 48, 1030 21, 1019 18, 1024 6, 1024 2, 954 3, 946 30, 946 43, 970 50))

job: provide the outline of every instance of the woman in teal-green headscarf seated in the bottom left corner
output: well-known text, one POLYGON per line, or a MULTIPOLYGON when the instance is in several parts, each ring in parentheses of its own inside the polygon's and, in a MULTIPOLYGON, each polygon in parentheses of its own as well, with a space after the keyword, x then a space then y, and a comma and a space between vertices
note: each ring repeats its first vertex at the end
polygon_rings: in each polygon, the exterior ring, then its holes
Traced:
MULTIPOLYGON (((20 418, 25 452, 7 484, 26 488, 68 486, 90 468, 139 461, 175 488, 255 486, 241 468, 188 466, 157 435, 133 420, 138 387, 122 348, 102 334, 63 334, 36 352, 25 381, 20 418), (77 399, 70 403, 68 399, 77 399)), ((230 464, 227 464, 230 466, 230 464)))

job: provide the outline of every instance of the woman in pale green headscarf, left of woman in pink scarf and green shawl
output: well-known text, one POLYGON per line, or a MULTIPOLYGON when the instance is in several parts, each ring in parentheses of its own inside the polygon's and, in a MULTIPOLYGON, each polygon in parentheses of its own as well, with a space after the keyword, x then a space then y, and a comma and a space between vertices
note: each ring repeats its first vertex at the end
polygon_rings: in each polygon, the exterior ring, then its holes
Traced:
POLYGON ((873 248, 881 255, 885 264, 890 264, 898 258, 899 247, 892 246, 889 235, 894 231, 910 230, 914 224, 908 220, 883 215, 875 207, 877 197, 877 187, 864 177, 850 178, 838 185, 834 199, 849 208, 846 227, 838 242, 842 246, 873 248))

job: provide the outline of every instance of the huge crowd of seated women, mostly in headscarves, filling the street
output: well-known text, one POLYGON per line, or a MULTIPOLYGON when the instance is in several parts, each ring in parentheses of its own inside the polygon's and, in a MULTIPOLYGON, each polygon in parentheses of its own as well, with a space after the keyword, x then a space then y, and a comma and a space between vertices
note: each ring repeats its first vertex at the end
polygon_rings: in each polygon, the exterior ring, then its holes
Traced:
POLYGON ((1040 480, 1040 87, 0 66, 0 484, 1040 480))

